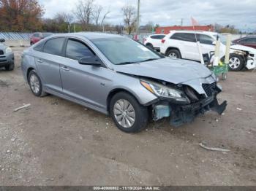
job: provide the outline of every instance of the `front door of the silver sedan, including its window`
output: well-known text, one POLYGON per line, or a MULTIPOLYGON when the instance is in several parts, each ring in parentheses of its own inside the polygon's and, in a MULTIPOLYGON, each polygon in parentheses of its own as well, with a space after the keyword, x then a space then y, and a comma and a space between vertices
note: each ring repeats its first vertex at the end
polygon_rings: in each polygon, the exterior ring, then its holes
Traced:
POLYGON ((61 63, 60 73, 63 93, 91 106, 106 109, 108 87, 113 71, 104 66, 81 65, 80 58, 94 56, 95 53, 77 39, 68 39, 66 58, 61 63))

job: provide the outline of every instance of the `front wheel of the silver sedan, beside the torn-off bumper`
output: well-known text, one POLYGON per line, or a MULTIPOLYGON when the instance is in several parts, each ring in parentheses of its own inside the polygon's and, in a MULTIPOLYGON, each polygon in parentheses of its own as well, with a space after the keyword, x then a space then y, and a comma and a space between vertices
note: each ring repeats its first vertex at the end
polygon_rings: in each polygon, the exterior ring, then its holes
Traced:
POLYGON ((110 116, 118 129, 126 133, 143 130, 148 124, 148 109, 125 92, 113 95, 110 101, 110 116))

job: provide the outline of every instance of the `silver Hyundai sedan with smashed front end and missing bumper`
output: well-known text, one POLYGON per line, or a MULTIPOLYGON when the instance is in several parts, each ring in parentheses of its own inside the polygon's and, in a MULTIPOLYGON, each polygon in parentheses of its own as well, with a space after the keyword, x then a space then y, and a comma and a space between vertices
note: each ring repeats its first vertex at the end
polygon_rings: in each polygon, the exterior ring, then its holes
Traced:
POLYGON ((221 87, 206 66, 165 58, 132 39, 113 34, 58 34, 23 52, 23 76, 32 93, 46 93, 104 114, 127 133, 148 120, 192 122, 218 104, 221 87))

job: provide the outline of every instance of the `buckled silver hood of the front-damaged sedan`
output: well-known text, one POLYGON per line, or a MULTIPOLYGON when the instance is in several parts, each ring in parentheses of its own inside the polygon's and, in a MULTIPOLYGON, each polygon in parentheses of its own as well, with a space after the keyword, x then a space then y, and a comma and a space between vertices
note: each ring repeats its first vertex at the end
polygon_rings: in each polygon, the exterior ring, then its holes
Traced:
POLYGON ((172 58, 115 65, 114 70, 124 74, 160 79, 173 84, 187 82, 192 79, 206 78, 211 75, 211 71, 200 63, 172 58))

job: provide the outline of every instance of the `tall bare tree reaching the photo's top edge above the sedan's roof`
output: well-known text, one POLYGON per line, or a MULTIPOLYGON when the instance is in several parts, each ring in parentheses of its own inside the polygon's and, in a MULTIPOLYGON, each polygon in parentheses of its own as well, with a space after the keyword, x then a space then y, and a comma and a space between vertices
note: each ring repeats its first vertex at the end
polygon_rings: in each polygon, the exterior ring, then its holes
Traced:
POLYGON ((84 26, 88 26, 91 23, 91 17, 94 7, 94 0, 79 1, 74 11, 77 19, 84 26))

